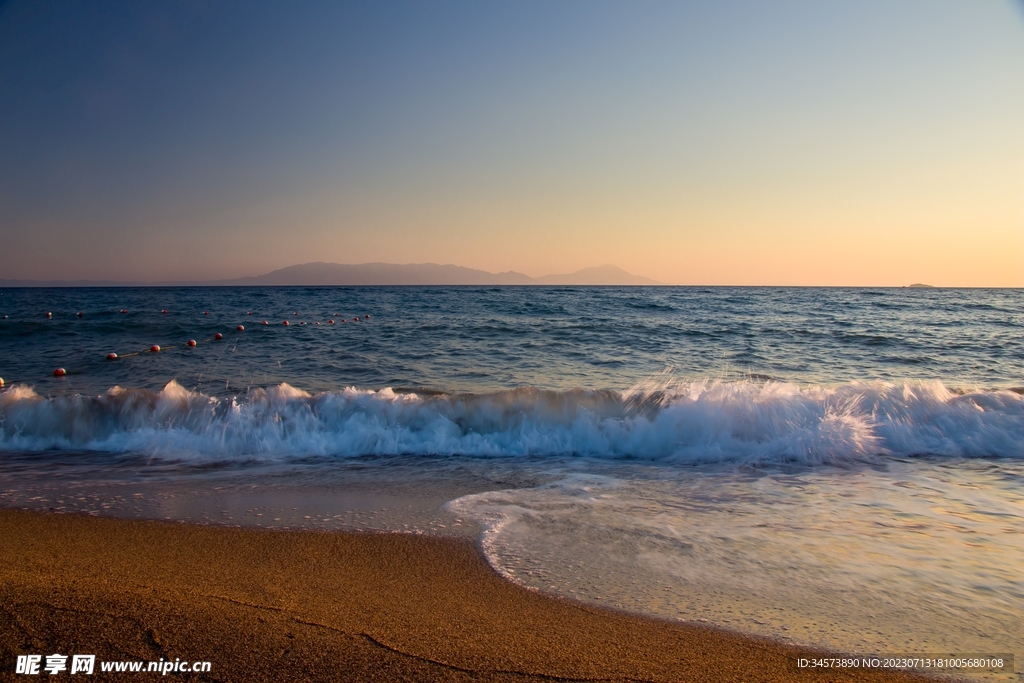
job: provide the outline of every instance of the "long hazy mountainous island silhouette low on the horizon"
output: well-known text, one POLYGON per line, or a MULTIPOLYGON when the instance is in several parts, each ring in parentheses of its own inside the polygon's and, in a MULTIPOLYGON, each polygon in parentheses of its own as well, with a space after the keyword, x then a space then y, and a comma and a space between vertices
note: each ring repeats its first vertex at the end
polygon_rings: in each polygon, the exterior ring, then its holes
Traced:
POLYGON ((117 282, 0 280, 0 287, 181 287, 332 286, 332 285, 660 285, 611 265, 575 272, 530 278, 515 270, 487 272, 461 265, 437 263, 302 263, 253 278, 203 282, 117 282))

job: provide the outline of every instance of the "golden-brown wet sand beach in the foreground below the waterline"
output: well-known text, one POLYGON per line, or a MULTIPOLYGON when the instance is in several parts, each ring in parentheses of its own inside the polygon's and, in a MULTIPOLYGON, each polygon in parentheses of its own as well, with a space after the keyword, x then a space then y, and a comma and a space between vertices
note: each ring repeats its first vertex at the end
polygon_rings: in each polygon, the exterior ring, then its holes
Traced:
POLYGON ((0 510, 0 678, 54 652, 209 660, 187 677, 217 681, 927 680, 534 593, 466 539, 0 510))

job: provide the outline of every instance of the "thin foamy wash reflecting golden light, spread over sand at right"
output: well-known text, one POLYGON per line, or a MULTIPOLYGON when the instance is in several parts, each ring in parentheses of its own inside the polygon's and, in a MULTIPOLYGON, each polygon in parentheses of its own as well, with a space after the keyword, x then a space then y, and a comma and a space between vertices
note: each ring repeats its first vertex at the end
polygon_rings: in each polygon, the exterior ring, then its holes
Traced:
POLYGON ((561 459, 446 509, 532 590, 844 652, 1022 651, 1024 463, 880 465, 561 459))

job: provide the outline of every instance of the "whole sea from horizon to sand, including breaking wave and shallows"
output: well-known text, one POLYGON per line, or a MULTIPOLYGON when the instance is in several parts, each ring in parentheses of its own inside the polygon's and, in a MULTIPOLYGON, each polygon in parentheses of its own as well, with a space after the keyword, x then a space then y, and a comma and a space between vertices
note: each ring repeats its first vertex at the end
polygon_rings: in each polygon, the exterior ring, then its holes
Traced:
POLYGON ((530 590, 1024 680, 1022 290, 9 288, 0 377, 5 507, 471 536, 530 590))

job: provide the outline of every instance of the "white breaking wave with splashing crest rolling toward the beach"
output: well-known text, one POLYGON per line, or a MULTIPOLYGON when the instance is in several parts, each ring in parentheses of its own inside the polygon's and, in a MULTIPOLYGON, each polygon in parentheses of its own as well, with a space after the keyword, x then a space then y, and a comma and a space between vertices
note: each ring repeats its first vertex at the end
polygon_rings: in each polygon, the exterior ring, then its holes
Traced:
POLYGON ((626 392, 433 394, 282 384, 217 398, 172 381, 100 396, 0 393, 0 450, 169 457, 588 456, 689 464, 1024 457, 1024 397, 941 382, 648 381, 626 392))

